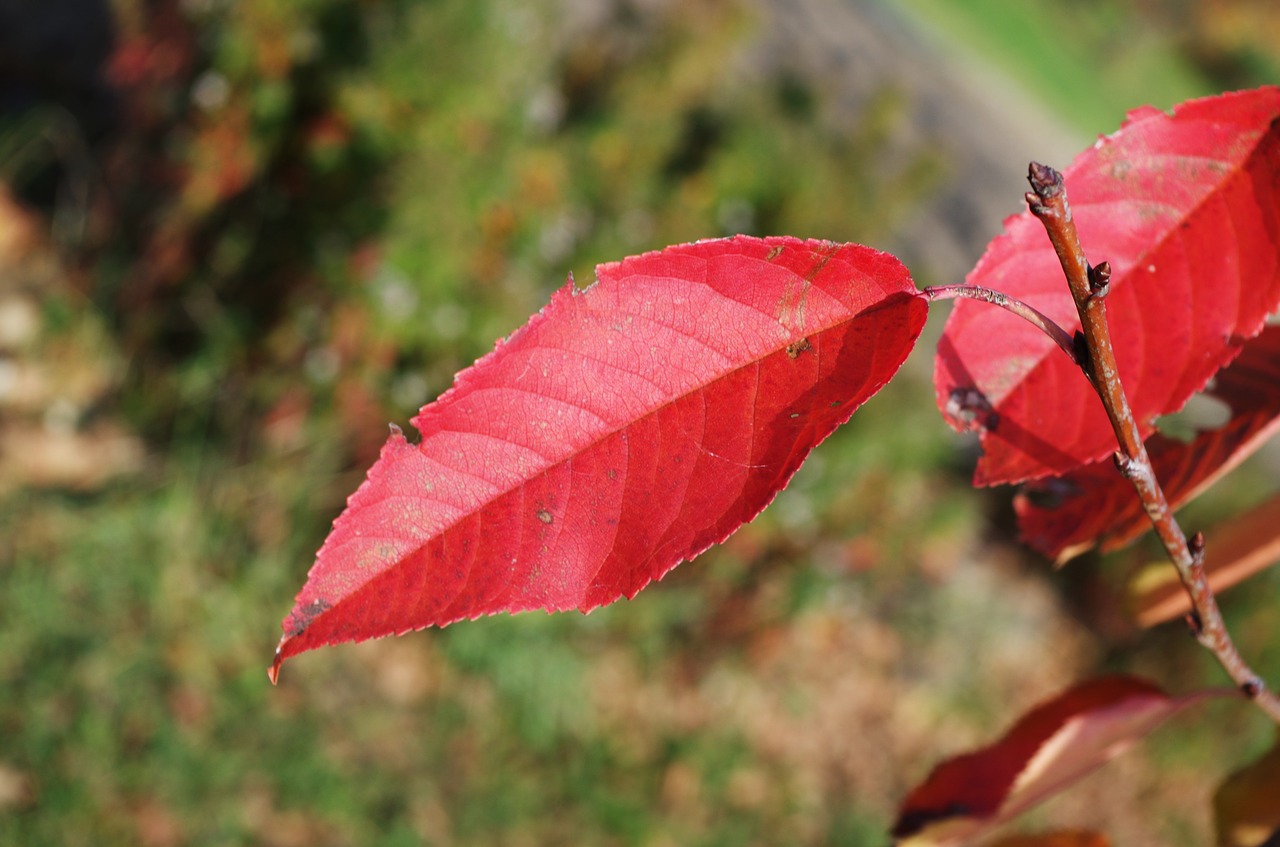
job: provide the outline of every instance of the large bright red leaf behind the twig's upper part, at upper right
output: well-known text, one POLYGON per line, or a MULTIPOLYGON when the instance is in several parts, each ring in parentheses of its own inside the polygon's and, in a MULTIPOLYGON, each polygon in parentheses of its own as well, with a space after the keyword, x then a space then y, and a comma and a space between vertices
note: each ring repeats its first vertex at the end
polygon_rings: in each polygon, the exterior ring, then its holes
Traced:
MULTIPOLYGON (((1146 438, 1258 333, 1280 305, 1280 88, 1129 114, 1064 171, 1084 251, 1111 262, 1107 313, 1121 380, 1146 438)), ((1039 221, 1023 212, 968 281, 1079 326, 1039 221)), ((956 303, 938 344, 940 408, 977 424, 974 482, 1062 475, 1115 449, 1079 368, 1000 310, 956 303)))

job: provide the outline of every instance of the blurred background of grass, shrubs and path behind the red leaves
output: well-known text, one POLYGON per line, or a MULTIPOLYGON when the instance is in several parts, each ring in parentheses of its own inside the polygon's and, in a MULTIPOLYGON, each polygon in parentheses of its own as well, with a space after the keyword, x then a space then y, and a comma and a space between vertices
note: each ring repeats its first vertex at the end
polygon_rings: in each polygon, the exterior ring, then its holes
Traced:
MULTIPOLYGON (((960 281, 1142 104, 1280 78, 1268 0, 0 0, 0 843, 878 844, 1105 669, 1151 550, 1053 572, 905 375, 636 600, 308 654, 387 436, 573 273, 731 233, 960 281)), ((1211 521, 1274 485, 1245 467, 1211 521), (1251 476, 1252 475, 1252 476, 1251 476)), ((1280 678, 1280 581, 1228 596, 1280 678)), ((1025 827, 1206 843, 1226 704, 1025 827)))

